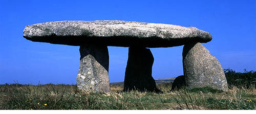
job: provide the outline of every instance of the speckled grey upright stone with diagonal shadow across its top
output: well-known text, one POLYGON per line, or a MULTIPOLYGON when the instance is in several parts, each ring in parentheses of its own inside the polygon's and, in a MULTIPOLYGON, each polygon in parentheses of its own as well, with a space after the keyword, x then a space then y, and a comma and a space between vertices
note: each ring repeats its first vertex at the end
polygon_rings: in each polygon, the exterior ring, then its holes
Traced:
POLYGON ((89 92, 109 92, 109 51, 101 45, 80 45, 77 87, 89 92))

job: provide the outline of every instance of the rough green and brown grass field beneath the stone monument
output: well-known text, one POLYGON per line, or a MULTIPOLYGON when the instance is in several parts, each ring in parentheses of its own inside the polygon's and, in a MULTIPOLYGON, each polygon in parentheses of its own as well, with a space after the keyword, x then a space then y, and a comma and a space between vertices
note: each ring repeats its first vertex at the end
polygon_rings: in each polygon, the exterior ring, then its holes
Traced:
POLYGON ((227 92, 210 87, 170 91, 172 83, 158 84, 162 94, 122 92, 122 85, 110 93, 86 93, 76 85, 0 85, 0 109, 256 109, 254 86, 230 86, 227 92))

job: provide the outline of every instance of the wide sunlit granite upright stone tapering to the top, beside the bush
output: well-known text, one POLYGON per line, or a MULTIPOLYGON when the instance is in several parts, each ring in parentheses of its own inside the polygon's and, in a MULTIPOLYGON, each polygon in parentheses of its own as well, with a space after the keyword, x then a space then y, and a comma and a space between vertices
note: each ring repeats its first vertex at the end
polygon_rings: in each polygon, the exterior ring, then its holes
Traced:
POLYGON ((183 72, 188 88, 210 86, 227 90, 227 80, 220 62, 199 42, 183 47, 183 72))

